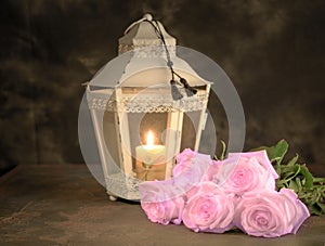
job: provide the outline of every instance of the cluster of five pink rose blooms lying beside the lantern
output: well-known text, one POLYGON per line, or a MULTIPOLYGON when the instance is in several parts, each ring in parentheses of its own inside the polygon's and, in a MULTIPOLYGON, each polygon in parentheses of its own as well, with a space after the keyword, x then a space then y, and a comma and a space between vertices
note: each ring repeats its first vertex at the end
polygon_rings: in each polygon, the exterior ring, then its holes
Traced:
POLYGON ((249 235, 296 233, 310 216, 297 194, 275 190, 278 178, 265 151, 232 153, 224 160, 184 150, 173 178, 140 184, 141 206, 153 222, 195 232, 238 228, 249 235))

